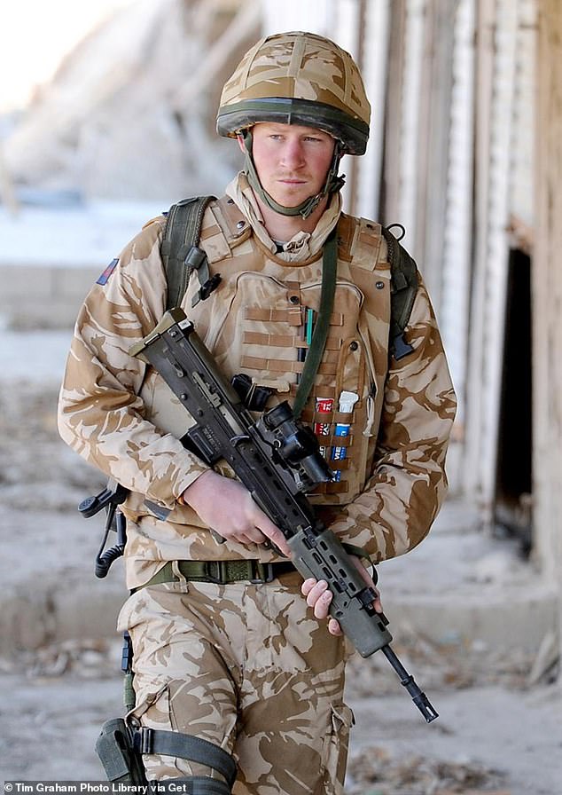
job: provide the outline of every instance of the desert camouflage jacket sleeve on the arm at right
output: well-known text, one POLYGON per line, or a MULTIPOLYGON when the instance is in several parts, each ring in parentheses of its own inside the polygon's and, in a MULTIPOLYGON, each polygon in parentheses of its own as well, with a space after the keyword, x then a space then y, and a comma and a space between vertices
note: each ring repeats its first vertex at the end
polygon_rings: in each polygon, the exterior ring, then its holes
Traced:
POLYGON ((371 476, 330 525, 375 563, 416 547, 447 492, 445 457, 457 401, 423 282, 405 336, 414 350, 391 359, 371 476))

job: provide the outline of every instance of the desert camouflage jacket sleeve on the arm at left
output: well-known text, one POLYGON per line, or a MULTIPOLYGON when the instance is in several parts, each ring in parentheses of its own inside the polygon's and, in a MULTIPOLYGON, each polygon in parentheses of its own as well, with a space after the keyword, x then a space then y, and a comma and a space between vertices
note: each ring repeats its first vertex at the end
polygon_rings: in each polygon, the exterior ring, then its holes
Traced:
POLYGON ((138 397, 147 365, 129 356, 165 311, 162 227, 161 218, 146 224, 87 295, 60 390, 59 433, 105 475, 174 508, 207 467, 147 421, 138 397))

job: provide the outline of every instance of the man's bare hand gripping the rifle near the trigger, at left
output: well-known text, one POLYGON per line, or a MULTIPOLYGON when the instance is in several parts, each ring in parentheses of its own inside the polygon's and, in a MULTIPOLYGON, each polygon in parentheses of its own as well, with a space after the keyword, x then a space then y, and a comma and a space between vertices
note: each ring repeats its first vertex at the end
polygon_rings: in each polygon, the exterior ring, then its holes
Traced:
POLYGON ((241 544, 264 544, 269 539, 280 552, 291 556, 283 533, 238 480, 207 469, 183 492, 182 500, 223 539, 241 544))

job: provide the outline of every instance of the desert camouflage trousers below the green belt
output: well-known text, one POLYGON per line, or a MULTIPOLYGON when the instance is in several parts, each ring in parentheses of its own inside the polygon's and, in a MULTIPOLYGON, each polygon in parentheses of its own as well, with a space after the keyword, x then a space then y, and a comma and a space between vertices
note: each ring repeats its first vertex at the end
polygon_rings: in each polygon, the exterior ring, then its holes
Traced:
MULTIPOLYGON (((353 722, 343 702, 345 642, 311 616, 300 575, 281 579, 166 583, 130 596, 119 628, 133 643, 132 714, 232 754, 236 795, 336 795, 353 722)), ((144 764, 149 780, 220 778, 163 755, 144 764)))

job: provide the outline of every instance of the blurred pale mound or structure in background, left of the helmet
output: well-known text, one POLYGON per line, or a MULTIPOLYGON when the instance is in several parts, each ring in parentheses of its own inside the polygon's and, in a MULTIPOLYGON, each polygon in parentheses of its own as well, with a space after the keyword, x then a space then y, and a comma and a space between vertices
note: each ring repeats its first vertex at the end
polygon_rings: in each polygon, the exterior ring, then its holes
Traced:
POLYGON ((136 0, 76 44, 5 138, 20 193, 69 187, 85 201, 212 193, 236 152, 215 113, 259 4, 136 0))

